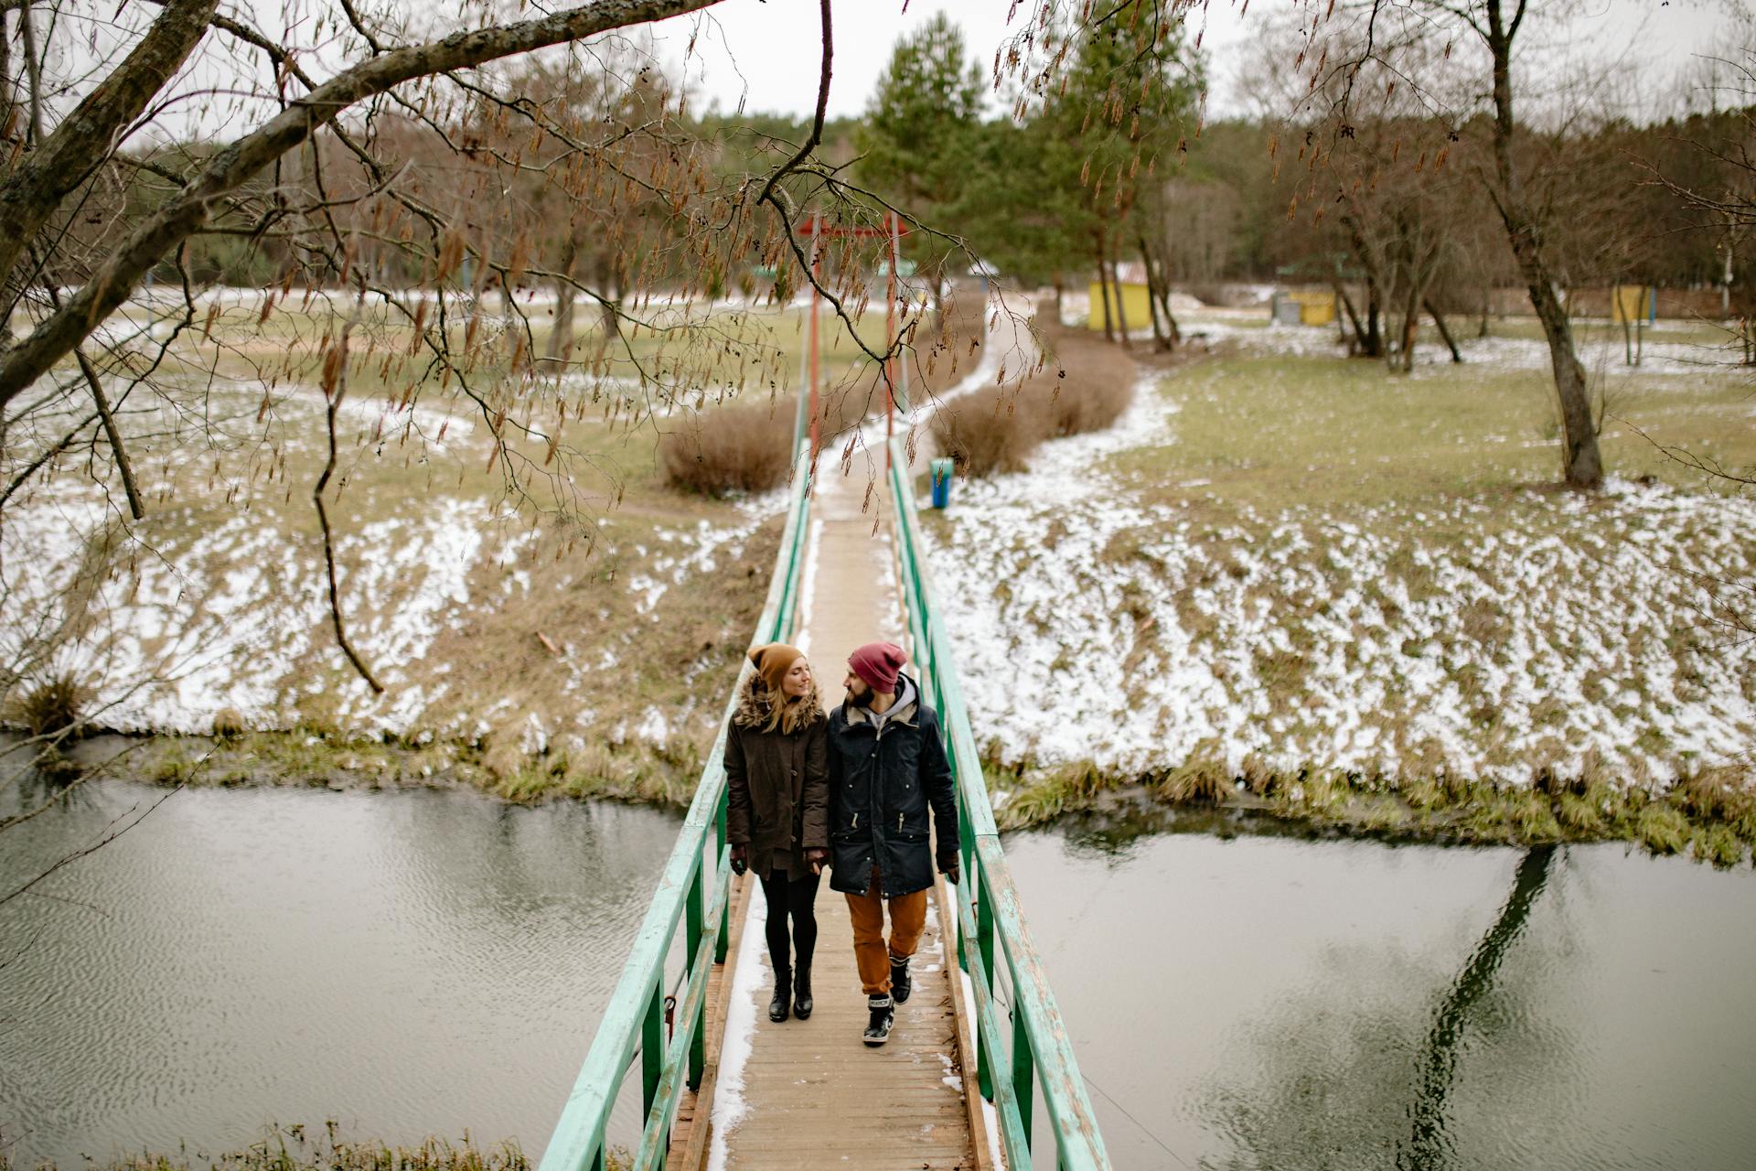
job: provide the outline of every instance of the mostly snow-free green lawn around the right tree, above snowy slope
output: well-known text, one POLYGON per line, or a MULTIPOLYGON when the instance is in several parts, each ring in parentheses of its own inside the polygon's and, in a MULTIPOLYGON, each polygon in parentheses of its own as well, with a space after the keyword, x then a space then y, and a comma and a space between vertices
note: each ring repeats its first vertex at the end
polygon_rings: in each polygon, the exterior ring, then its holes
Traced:
MULTIPOLYGON (((1419 504, 1559 478, 1554 390, 1540 372, 1463 365, 1405 377, 1375 362, 1241 356, 1178 374, 1171 388, 1177 442, 1112 460, 1159 499, 1419 504)), ((1612 474, 1710 486, 1654 444, 1756 465, 1756 386, 1735 376, 1616 374, 1608 400, 1612 474)))

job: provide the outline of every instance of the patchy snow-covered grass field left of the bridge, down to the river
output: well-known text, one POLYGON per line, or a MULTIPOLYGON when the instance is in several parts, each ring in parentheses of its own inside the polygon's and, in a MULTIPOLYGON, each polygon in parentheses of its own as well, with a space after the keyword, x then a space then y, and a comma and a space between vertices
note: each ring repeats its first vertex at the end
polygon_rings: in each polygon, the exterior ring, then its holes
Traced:
MULTIPOLYGON (((637 307, 655 328, 608 369, 511 383, 516 334, 529 321, 527 349, 541 353, 553 302, 525 290, 518 309, 523 321, 490 297, 472 327, 453 300, 451 339, 469 367, 455 372, 428 365, 399 313, 358 311, 330 516, 348 634, 386 695, 335 644, 309 499, 327 456, 321 351, 356 311, 304 290, 204 295, 197 327, 160 365, 172 397, 109 379, 144 521, 126 516, 102 444, 7 502, 0 692, 68 678, 97 729, 234 732, 198 772, 205 744, 146 753, 148 771, 170 779, 460 776, 513 799, 687 799, 762 604, 785 500, 680 493, 655 449, 697 409, 785 406, 808 314, 655 300, 637 307), (667 370, 694 370, 699 390, 648 400, 632 363, 651 365, 681 327, 695 344, 673 348, 681 365, 667 370), (509 446, 495 455, 500 423, 509 446), (574 449, 565 471, 520 437, 557 423, 574 449), (562 506, 578 523, 557 518, 562 506)), ((172 290, 155 290, 105 330, 148 356, 177 318, 172 290)), ((581 307, 578 327, 590 355, 594 314, 581 307)), ((831 313, 822 327, 831 406, 871 399, 846 330, 831 313)), ((882 313, 859 328, 882 344, 882 313)), ((939 358, 938 374, 950 365, 939 358)), ((11 427, 7 478, 83 420, 72 386, 11 427)))

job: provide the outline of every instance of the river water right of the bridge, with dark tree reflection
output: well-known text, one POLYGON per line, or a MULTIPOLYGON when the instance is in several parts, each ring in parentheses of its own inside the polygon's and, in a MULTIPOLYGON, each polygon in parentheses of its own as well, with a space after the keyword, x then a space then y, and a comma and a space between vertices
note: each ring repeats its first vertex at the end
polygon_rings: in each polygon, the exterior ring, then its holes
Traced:
POLYGON ((1751 873, 1092 822, 1006 844, 1119 1167, 1747 1166, 1751 873))

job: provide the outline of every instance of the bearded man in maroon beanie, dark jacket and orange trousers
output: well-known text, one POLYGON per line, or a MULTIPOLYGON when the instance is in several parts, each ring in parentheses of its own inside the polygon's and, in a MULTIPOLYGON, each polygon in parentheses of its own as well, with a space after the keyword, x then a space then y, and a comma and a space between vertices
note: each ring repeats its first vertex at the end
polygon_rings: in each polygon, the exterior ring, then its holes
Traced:
POLYGON ((871 1011, 866 1045, 890 1039, 896 1004, 913 987, 908 959, 927 923, 934 860, 950 881, 959 880, 957 797, 939 713, 922 702, 920 688, 903 674, 904 662, 896 643, 853 651, 848 699, 829 713, 829 885, 848 897, 853 918, 853 960, 871 1011))

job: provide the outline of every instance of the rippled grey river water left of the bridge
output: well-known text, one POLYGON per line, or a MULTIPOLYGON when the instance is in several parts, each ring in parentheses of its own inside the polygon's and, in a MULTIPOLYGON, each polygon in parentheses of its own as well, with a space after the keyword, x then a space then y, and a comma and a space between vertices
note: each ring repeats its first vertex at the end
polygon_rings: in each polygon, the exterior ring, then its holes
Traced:
MULTIPOLYGON (((0 836, 0 881, 165 792, 70 794, 0 836)), ((177 792, 0 908, 0 1132, 21 1166, 328 1117, 541 1150, 674 836, 608 804, 177 792)))

